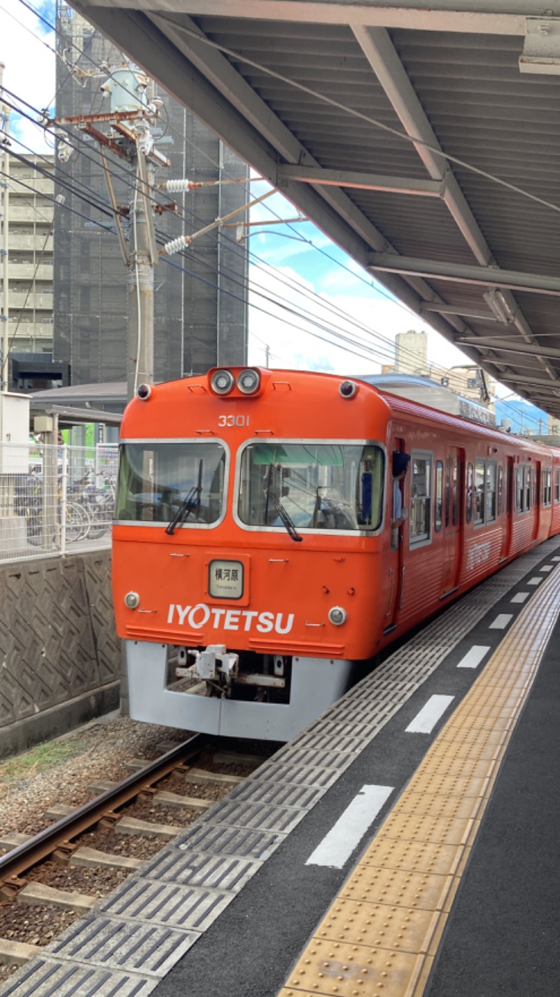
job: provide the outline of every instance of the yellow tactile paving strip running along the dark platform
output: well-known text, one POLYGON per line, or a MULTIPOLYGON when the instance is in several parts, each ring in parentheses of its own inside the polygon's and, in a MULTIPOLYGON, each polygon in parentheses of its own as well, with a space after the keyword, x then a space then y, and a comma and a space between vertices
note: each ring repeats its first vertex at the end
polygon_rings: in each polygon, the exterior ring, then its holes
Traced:
POLYGON ((432 744, 278 997, 421 997, 560 611, 550 574, 432 744))

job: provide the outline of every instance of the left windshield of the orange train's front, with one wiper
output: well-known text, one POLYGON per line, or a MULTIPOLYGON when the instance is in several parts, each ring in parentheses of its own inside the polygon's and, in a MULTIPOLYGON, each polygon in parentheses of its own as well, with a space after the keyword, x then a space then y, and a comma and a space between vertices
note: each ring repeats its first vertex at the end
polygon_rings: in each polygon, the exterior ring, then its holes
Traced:
POLYGON ((226 452, 219 443, 142 442, 120 448, 115 519, 177 528, 221 518, 226 452))

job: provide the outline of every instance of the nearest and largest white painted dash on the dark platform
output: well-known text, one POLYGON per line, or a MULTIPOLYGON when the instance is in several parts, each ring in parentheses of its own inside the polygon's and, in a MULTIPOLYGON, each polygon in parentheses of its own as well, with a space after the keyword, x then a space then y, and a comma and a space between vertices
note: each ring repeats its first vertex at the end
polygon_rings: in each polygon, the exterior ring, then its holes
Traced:
POLYGON ((393 786, 362 786, 357 797, 311 852, 305 865, 328 865, 341 869, 393 790, 393 786))

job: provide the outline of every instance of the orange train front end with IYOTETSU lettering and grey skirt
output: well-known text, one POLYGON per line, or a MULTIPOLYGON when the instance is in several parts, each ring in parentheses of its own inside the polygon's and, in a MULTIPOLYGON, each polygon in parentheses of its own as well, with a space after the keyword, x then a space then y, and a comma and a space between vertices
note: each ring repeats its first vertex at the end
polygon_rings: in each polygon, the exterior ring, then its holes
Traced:
POLYGON ((112 554, 133 719, 285 741, 345 692, 383 625, 387 422, 331 375, 140 386, 112 554))

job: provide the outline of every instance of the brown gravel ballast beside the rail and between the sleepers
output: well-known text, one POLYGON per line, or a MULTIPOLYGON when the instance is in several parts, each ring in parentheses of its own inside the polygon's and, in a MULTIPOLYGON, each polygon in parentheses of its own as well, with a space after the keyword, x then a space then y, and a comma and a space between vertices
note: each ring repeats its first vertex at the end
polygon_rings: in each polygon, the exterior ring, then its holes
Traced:
MULTIPOLYGON (((0 763, 0 830, 26 834, 42 831, 52 823, 46 817, 46 811, 53 805, 80 807, 93 799, 89 789, 93 784, 100 781, 119 782, 130 775, 130 770, 125 768, 127 761, 133 758, 152 761, 161 755, 162 744, 179 744, 188 737, 188 731, 142 724, 110 714, 40 746, 39 750, 32 749, 6 759, 0 763)), ((259 749, 262 751, 262 746, 258 746, 257 751, 259 749)), ((251 751, 251 748, 248 750, 251 751)), ((251 766, 216 764, 210 754, 203 756, 195 766, 237 776, 249 776, 254 771, 251 766)), ((179 774, 166 777, 157 789, 211 802, 221 800, 230 792, 228 787, 211 783, 186 783, 179 774)), ((187 827, 199 817, 195 811, 161 807, 145 798, 131 803, 123 813, 156 824, 180 827, 187 827)), ((148 859, 165 844, 161 838, 118 834, 114 828, 102 827, 84 834, 81 841, 90 847, 141 859, 148 859)), ((49 861, 40 866, 31 878, 60 889, 103 896, 126 874, 49 861)), ((0 937, 46 945, 80 916, 51 905, 27 906, 0 900, 0 937)), ((16 968, 0 965, 0 983, 16 968)))

